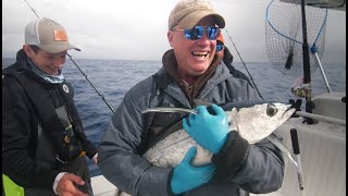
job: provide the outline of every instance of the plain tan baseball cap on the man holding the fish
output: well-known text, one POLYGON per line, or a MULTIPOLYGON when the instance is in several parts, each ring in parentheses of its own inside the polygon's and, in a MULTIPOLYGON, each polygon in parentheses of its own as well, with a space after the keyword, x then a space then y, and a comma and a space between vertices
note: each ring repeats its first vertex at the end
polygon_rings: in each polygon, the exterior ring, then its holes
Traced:
POLYGON ((192 28, 204 16, 212 15, 220 28, 225 27, 225 20, 217 14, 213 4, 208 0, 181 0, 172 10, 169 19, 169 29, 181 25, 183 28, 192 28))

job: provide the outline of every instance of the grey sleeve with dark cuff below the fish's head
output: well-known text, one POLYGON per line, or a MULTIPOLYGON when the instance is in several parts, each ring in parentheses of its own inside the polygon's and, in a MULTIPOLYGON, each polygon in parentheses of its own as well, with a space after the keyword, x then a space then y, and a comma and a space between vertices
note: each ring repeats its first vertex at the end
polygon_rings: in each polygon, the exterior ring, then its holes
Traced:
POLYGON ((284 159, 279 149, 266 138, 250 145, 237 132, 231 132, 212 161, 247 192, 264 194, 282 186, 284 159))

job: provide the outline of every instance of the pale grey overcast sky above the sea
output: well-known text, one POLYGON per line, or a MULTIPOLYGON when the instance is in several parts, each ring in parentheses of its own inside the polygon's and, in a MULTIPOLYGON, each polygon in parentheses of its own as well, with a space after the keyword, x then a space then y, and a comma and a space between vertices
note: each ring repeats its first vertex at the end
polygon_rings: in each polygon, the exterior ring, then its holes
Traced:
MULTIPOLYGON (((265 9, 271 0, 213 0, 246 62, 268 62, 265 9)), ((39 16, 64 26, 75 59, 161 60, 170 49, 167 17, 177 0, 27 0, 39 16)), ((37 19, 24 0, 2 0, 2 57, 14 58, 24 27, 37 19)), ((225 42, 237 57, 233 44, 225 42)), ((227 39, 227 40, 226 40, 227 39)), ((322 62, 346 63, 346 12, 330 11, 322 62)))

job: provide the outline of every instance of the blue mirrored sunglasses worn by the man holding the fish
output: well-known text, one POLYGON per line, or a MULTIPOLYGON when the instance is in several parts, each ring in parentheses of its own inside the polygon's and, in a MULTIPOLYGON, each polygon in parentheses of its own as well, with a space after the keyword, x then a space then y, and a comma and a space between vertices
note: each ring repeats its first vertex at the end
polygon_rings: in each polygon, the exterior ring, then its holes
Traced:
POLYGON ((203 33, 206 32, 208 39, 215 40, 220 36, 221 29, 215 26, 194 26, 190 29, 173 29, 173 30, 183 30, 184 36, 188 40, 198 40, 202 38, 203 33))

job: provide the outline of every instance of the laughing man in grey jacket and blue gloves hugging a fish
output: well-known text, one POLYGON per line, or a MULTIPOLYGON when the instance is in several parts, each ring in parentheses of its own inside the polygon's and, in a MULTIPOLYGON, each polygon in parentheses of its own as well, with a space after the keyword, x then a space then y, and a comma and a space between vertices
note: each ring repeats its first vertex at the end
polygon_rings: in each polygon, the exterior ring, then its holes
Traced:
MULTIPOLYGON (((173 49, 163 54, 163 68, 125 95, 100 143, 101 172, 123 192, 134 196, 237 196, 281 187, 284 160, 279 150, 268 139, 249 144, 238 132, 229 132, 226 114, 217 106, 260 100, 247 81, 221 65, 215 49, 224 26, 223 16, 207 0, 182 0, 171 12, 167 39, 173 49), (197 114, 142 113, 156 107, 196 108, 197 114), (144 157, 183 127, 213 154, 211 163, 191 164, 196 147, 185 151, 173 168, 152 164, 144 157)), ((181 145, 175 148, 182 149, 181 145)))

